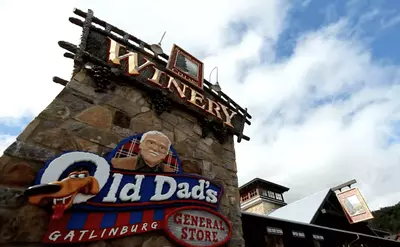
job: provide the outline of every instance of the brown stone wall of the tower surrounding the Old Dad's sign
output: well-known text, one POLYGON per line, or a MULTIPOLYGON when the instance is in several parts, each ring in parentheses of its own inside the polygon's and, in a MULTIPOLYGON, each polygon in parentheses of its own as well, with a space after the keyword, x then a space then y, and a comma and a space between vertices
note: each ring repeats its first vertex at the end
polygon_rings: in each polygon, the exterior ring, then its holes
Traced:
MULTIPOLYGON (((76 74, 0 158, 0 245, 41 246, 50 210, 27 204, 22 193, 47 160, 70 150, 104 155, 128 136, 160 130, 173 142, 183 172, 223 184, 220 212, 233 228, 228 246, 244 246, 233 138, 224 145, 211 136, 201 138, 197 120, 187 113, 172 110, 157 116, 144 94, 133 87, 117 86, 99 94, 91 80, 84 70, 76 74)), ((174 245, 153 232, 82 246, 174 245)))

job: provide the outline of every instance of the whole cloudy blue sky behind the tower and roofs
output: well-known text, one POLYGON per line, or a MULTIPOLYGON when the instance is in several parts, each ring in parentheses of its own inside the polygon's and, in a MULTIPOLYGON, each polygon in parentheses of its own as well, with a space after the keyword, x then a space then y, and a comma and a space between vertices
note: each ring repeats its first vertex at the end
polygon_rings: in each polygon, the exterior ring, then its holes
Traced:
POLYGON ((291 202, 356 179, 371 209, 400 201, 400 2, 3 0, 0 153, 62 90, 52 77, 70 78, 57 42, 78 44, 75 7, 147 43, 166 31, 164 51, 189 51, 206 79, 218 66, 253 117, 239 184, 282 184, 291 202))

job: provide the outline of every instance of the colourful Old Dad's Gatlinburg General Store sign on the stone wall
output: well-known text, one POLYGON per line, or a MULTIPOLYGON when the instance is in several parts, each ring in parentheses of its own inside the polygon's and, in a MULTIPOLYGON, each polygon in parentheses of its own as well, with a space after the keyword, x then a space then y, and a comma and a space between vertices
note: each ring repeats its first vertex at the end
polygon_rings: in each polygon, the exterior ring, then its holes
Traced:
POLYGON ((231 235, 218 212, 222 187, 182 174, 167 136, 149 131, 103 158, 67 152, 39 172, 29 202, 51 205, 45 243, 77 243, 161 230, 184 246, 219 246, 231 235))

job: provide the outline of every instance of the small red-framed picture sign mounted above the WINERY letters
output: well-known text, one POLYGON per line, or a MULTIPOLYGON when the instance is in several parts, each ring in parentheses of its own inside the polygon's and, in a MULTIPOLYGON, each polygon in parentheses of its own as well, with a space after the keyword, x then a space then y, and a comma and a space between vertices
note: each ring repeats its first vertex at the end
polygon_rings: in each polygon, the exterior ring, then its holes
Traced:
POLYGON ((176 76, 203 89, 203 63, 176 44, 173 45, 167 69, 176 76))

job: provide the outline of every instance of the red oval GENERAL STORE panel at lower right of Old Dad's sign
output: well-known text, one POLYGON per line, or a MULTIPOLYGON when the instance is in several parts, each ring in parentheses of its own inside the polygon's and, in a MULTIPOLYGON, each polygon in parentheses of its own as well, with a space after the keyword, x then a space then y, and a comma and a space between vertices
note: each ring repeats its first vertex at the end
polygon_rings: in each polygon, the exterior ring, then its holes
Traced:
MULTIPOLYGON (((171 240, 173 240, 174 242, 176 242, 178 245, 180 245, 180 246, 184 246, 184 247, 198 247, 198 245, 192 245, 192 244, 190 244, 190 243, 188 243, 188 242, 185 242, 184 240, 182 240, 182 239, 179 239, 178 237, 176 237, 173 233, 172 233, 172 231, 171 231, 171 229, 170 229, 170 227, 169 227, 169 225, 168 225, 168 220, 169 220, 169 218, 171 218, 171 217, 173 217, 173 216, 175 216, 175 215, 177 215, 179 212, 181 212, 181 211, 186 211, 186 210, 193 210, 193 211, 203 211, 203 212, 208 212, 208 213, 210 213, 210 214, 212 214, 212 215, 214 215, 214 216, 216 216, 217 218, 219 218, 220 220, 222 220, 223 222, 225 222, 225 224, 228 226, 228 231, 227 231, 227 236, 222 240, 222 241, 219 241, 219 242, 217 242, 217 243, 214 243, 214 244, 211 244, 211 245, 207 245, 207 247, 218 247, 218 246, 221 246, 221 245, 224 245, 226 242, 228 242, 230 239, 231 239, 231 237, 232 237, 232 226, 231 226, 231 224, 229 223, 229 220, 225 217, 225 216, 223 216, 222 214, 220 214, 220 213, 218 213, 218 212, 216 212, 216 211, 214 211, 214 210, 211 210, 211 209, 209 209, 209 208, 205 208, 205 207, 201 207, 201 206, 188 206, 188 207, 180 207, 180 208, 175 208, 174 210, 172 210, 172 211, 170 211, 169 213, 167 213, 166 215, 165 215, 165 218, 164 218, 164 226, 163 226, 163 228, 164 228, 164 231, 165 231, 165 233, 167 234, 167 236, 169 237, 169 238, 171 238, 171 240)), ((205 218, 205 217, 204 217, 205 218)), ((186 219, 185 219, 186 220, 186 219)), ((202 225, 203 226, 206 226, 206 227, 216 227, 216 228, 218 228, 218 227, 221 227, 221 225, 217 225, 217 226, 215 226, 215 225, 213 225, 211 222, 209 222, 208 220, 204 220, 204 221, 201 221, 202 223, 202 225)), ((190 224, 193 224, 193 222, 192 223, 189 223, 189 226, 190 226, 190 224)), ((202 226, 202 225, 200 225, 200 227, 202 226)), ((197 230, 197 229, 196 229, 197 230)), ((221 230, 226 230, 226 229, 222 229, 221 228, 221 230)), ((185 233, 183 233, 182 232, 182 234, 183 235, 185 235, 185 233)), ((183 236, 182 235, 182 236, 183 236)), ((215 238, 216 237, 216 233, 214 233, 214 234, 212 234, 212 233, 210 233, 210 232, 203 232, 203 231, 197 231, 195 234, 193 234, 193 235, 195 235, 197 238, 199 238, 199 239, 212 239, 212 238, 215 238)), ((191 237, 193 237, 193 235, 191 235, 191 237)), ((192 239, 193 240, 193 239, 192 239)))

